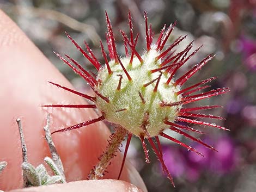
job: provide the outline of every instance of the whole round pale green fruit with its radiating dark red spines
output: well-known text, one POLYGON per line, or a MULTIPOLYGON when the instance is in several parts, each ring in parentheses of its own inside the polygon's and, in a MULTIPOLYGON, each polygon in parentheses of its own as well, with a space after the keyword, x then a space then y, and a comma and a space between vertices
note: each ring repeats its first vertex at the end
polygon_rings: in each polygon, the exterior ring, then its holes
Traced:
MULTIPOLYGON (((159 158, 162 164, 163 172, 167 174, 168 178, 173 183, 172 177, 170 176, 166 165, 164 165, 159 135, 200 155, 202 154, 191 146, 170 137, 163 131, 170 129, 176 133, 184 135, 184 137, 189 138, 192 141, 196 141, 212 150, 215 150, 212 146, 203 143, 203 141, 200 139, 192 137, 185 131, 197 133, 202 132, 198 131, 197 129, 193 129, 190 126, 181 125, 179 122, 193 123, 227 130, 224 127, 216 125, 215 123, 204 122, 197 119, 200 117, 222 119, 222 117, 219 116, 198 113, 199 110, 212 109, 221 106, 200 106, 192 108, 185 108, 184 106, 186 106, 188 103, 203 100, 204 98, 224 94, 228 92, 229 89, 219 88, 195 94, 197 91, 209 88, 210 86, 205 84, 211 82, 211 80, 214 80, 215 77, 208 78, 197 84, 182 88, 182 85, 184 85, 187 80, 194 75, 194 73, 199 71, 206 63, 208 63, 213 56, 208 55, 202 61, 194 65, 192 69, 188 70, 184 75, 178 79, 174 79, 176 71, 180 69, 180 67, 184 65, 194 54, 196 54, 201 47, 192 52, 192 41, 183 51, 176 53, 173 51, 173 48, 186 38, 186 36, 180 36, 173 42, 173 44, 169 45, 163 51, 169 35, 176 23, 170 24, 167 29, 164 25, 154 44, 154 33, 151 28, 151 24, 148 27, 148 17, 146 13, 144 13, 144 18, 147 44, 146 51, 142 55, 136 51, 138 34, 134 38, 131 14, 129 11, 130 39, 127 37, 124 31, 120 30, 120 33, 124 38, 124 46, 126 51, 125 57, 120 58, 117 53, 111 22, 109 21, 106 13, 106 38, 110 60, 107 59, 105 49, 102 42, 100 42, 102 55, 105 59, 105 65, 100 64, 92 49, 89 48, 86 42, 84 42, 84 44, 87 52, 84 51, 69 34, 67 34, 68 38, 77 47, 77 49, 90 61, 90 63, 95 66, 98 71, 97 77, 95 78, 88 71, 84 70, 83 67, 77 63, 77 61, 70 58, 68 55, 65 55, 66 58, 64 58, 58 53, 56 54, 64 61, 64 63, 68 64, 72 70, 74 70, 82 78, 84 78, 86 82, 88 82, 95 95, 89 96, 66 88, 62 85, 52 82, 50 83, 58 86, 59 88, 80 95, 94 104, 54 104, 47 105, 45 107, 96 108, 102 114, 100 117, 68 128, 60 129, 53 133, 77 129, 102 120, 114 123, 115 125, 121 126, 127 130, 128 138, 125 148, 125 156, 132 135, 136 135, 142 141, 146 162, 149 162, 148 150, 144 142, 144 139, 146 138, 159 158), (156 141, 156 144, 154 140, 156 141)), ((124 161, 125 158, 123 160, 123 165, 124 161)))

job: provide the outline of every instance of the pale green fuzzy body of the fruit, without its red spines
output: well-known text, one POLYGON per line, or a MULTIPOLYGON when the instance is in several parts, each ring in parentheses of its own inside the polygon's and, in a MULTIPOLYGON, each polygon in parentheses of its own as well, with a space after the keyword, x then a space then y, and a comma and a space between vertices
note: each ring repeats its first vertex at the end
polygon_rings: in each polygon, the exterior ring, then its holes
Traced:
MULTIPOLYGON (((153 46, 154 47, 154 46, 153 46)), ((96 96, 97 109, 106 120, 116 123, 138 137, 154 137, 169 126, 164 120, 173 122, 179 113, 181 105, 163 107, 161 103, 179 102, 181 96, 175 92, 180 90, 173 82, 166 84, 168 74, 163 71, 152 73, 151 70, 160 67, 161 59, 157 60, 160 52, 151 48, 142 55, 143 63, 136 57, 130 64, 130 57, 121 58, 121 63, 129 73, 131 80, 126 77, 124 70, 114 60, 109 62, 112 73, 109 75, 106 65, 97 75, 100 82, 96 85, 101 95, 108 102, 96 96)))

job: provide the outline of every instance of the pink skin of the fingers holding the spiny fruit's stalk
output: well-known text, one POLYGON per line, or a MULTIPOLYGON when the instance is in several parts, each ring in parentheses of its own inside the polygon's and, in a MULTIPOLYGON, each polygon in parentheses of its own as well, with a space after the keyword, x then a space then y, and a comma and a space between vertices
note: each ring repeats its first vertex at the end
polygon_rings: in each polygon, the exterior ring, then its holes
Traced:
MULTIPOLYGON (((46 113, 51 114, 51 131, 75 125, 97 117, 91 109, 47 109, 42 104, 65 103, 84 104, 81 97, 47 83, 55 82, 69 88, 72 85, 47 60, 25 34, 0 11, 0 161, 8 162, 0 175, 0 189, 22 188, 22 153, 19 132, 15 120, 22 121, 28 150, 29 163, 37 166, 50 156, 44 139, 43 127, 46 113)), ((78 131, 53 134, 64 164, 67 181, 87 178, 89 171, 97 163, 97 158, 105 150, 109 130, 103 122, 81 128, 78 131)), ((118 176, 122 157, 117 154, 108 168, 105 178, 118 176)), ((147 190, 138 172, 129 164, 125 165, 121 180, 102 179, 101 181, 79 181, 51 185, 48 188, 32 188, 29 191, 138 191, 147 190)), ((26 189, 23 189, 24 191, 26 189)), ((23 191, 18 190, 18 191, 23 191)))

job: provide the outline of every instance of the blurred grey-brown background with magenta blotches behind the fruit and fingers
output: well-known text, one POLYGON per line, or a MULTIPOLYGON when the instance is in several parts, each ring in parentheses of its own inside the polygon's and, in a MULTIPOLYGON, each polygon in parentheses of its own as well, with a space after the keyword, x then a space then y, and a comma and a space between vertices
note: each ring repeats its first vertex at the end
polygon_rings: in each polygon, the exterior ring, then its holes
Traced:
MULTIPOLYGON (((223 96, 213 97, 199 104, 220 104, 221 109, 209 110, 209 114, 226 118, 211 121, 231 129, 230 132, 204 129, 205 135, 197 135, 219 152, 190 143, 179 135, 173 135, 196 147, 205 158, 186 151, 178 145, 161 140, 164 159, 174 177, 176 188, 162 174, 161 165, 150 152, 150 164, 146 164, 141 141, 132 139, 128 156, 140 172, 148 191, 246 191, 256 190, 256 1, 255 0, 59 0, 59 1, 2 1, 5 11, 32 39, 36 46, 68 78, 75 88, 88 91, 87 84, 71 69, 56 58, 53 51, 67 53, 95 72, 92 65, 82 58, 66 38, 64 31, 82 45, 86 40, 97 58, 104 63, 99 40, 105 41, 105 10, 114 28, 119 54, 125 55, 123 40, 118 29, 127 33, 127 11, 131 10, 135 33, 140 33, 137 50, 142 53, 145 45, 143 11, 147 11, 155 37, 163 24, 178 21, 168 40, 173 42, 180 35, 188 34, 178 50, 195 40, 194 48, 204 45, 187 66, 178 72, 183 74, 206 54, 216 57, 186 85, 217 76, 211 88, 229 87, 223 96)), ((196 128, 200 128, 194 126, 196 128)), ((173 134, 173 133, 169 133, 173 134)), ((195 135, 196 136, 196 135, 195 135)), ((124 151, 122 149, 122 151, 124 151)))

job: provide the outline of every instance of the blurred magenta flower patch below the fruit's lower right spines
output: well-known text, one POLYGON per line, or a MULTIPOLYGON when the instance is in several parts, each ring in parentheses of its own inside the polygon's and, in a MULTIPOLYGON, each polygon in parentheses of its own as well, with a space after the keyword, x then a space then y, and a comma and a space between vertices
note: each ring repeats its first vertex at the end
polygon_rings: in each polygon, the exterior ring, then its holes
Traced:
POLYGON ((223 136, 215 140, 205 138, 203 141, 213 145, 218 152, 194 143, 193 147, 204 154, 205 157, 202 157, 174 146, 163 146, 164 162, 174 177, 184 176, 190 182, 195 182, 203 171, 226 174, 235 168, 238 154, 230 137, 223 136))

